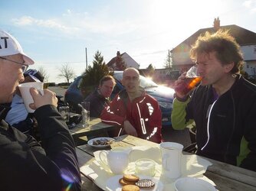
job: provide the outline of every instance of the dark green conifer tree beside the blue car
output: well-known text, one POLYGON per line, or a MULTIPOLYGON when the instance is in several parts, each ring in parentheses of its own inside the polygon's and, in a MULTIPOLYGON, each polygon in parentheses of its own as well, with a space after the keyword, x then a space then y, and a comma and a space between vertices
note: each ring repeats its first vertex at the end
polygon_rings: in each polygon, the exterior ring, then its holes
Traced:
POLYGON ((113 75, 110 73, 106 63, 103 61, 103 56, 99 50, 94 55, 93 66, 88 66, 88 70, 83 73, 83 79, 80 83, 80 91, 83 92, 84 97, 91 92, 95 86, 99 85, 100 79, 103 76, 108 74, 113 75))

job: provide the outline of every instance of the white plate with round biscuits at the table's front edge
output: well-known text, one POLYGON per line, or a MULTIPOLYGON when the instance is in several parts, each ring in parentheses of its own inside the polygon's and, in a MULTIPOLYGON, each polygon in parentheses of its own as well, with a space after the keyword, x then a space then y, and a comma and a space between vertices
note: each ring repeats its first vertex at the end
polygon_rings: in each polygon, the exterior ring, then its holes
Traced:
POLYGON ((163 185, 151 176, 123 174, 108 179, 106 189, 109 191, 162 191, 163 185))

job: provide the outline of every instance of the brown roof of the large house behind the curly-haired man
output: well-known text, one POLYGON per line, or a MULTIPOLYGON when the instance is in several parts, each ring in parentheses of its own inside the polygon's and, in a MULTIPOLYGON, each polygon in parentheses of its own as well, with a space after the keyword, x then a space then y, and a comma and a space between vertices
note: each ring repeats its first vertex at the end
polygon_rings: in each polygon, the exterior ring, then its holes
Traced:
MULTIPOLYGON (((235 37, 235 40, 240 44, 240 46, 243 45, 250 45, 250 44, 256 44, 256 33, 249 31, 245 28, 238 27, 235 24, 226 25, 226 26, 220 26, 219 29, 222 30, 229 30, 232 37, 235 37)), ((172 49, 171 52, 177 52, 180 50, 180 47, 183 47, 184 44, 191 47, 192 44, 195 43, 195 40, 199 37, 200 34, 205 34, 205 32, 208 31, 210 33, 214 33, 216 31, 215 28, 202 28, 199 29, 199 31, 196 31, 194 34, 192 34, 190 37, 185 39, 181 44, 176 46, 172 49)))

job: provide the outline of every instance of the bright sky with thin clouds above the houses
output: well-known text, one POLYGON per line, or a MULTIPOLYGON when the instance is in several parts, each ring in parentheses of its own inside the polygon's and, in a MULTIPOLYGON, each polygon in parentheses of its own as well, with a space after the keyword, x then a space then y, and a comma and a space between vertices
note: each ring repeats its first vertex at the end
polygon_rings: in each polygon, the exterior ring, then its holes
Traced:
POLYGON ((97 50, 108 63, 117 51, 143 69, 164 66, 168 51, 201 28, 236 24, 256 32, 256 0, 8 0, 0 3, 0 28, 16 37, 25 53, 58 77, 68 64, 76 76, 97 50))

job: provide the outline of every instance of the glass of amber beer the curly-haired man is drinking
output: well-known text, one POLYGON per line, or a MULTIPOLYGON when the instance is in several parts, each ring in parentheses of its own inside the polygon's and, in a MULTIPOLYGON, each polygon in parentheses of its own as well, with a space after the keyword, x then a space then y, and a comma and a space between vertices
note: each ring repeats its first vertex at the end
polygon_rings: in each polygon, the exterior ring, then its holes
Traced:
POLYGON ((182 95, 187 95, 201 80, 202 77, 197 73, 197 66, 192 66, 185 74, 183 82, 176 87, 175 91, 182 95))

